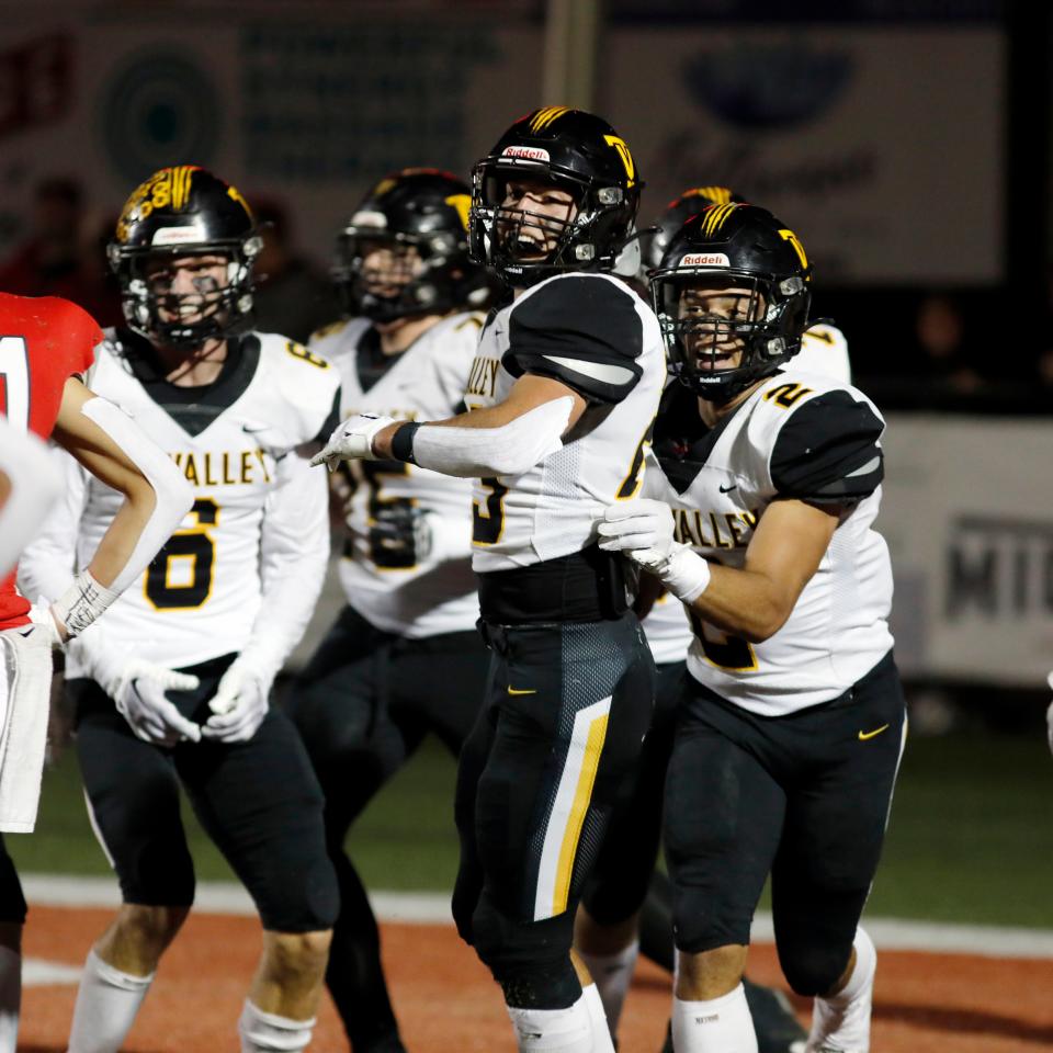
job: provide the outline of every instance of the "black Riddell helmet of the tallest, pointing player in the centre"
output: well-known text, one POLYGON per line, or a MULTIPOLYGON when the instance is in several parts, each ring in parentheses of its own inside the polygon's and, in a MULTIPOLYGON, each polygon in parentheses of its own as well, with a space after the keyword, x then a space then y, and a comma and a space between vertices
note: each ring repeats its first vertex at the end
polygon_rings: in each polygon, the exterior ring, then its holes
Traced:
MULTIPOLYGON (((639 192, 636 162, 625 140, 584 110, 544 106, 520 117, 472 172, 468 238, 472 258, 510 285, 524 287, 564 271, 611 271, 631 241, 639 192), (502 206, 509 180, 530 179, 566 191, 573 219, 502 206), (543 260, 521 258, 524 219, 551 231, 543 260)), ((633 242, 635 245, 635 242, 633 242)))

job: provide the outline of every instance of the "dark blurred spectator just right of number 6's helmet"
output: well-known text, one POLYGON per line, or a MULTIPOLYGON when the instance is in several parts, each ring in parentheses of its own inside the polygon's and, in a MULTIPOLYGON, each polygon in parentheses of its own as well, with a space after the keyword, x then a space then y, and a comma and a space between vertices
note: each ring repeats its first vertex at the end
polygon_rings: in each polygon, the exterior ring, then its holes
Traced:
POLYGON ((285 210, 274 202, 253 205, 263 250, 256 260, 256 327, 306 342, 319 327, 340 317, 332 285, 295 256, 285 210))

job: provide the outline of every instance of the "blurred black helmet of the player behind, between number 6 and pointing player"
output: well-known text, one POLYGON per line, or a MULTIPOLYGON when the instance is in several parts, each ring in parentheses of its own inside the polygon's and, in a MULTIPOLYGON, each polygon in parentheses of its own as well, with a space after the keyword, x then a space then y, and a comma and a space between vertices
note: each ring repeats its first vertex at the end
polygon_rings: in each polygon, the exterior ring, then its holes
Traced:
POLYGON ((344 312, 373 321, 483 307, 487 278, 468 259, 467 185, 438 168, 385 176, 337 238, 332 279, 344 312), (366 265, 375 247, 392 250, 384 271, 366 265), (421 267, 414 273, 416 250, 421 267))

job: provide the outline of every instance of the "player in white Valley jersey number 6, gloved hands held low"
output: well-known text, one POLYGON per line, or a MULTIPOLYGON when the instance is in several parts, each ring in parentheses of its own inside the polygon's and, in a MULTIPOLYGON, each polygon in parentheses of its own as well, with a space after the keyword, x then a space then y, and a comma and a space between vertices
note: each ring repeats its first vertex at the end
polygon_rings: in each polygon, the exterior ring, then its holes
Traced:
MULTIPOLYGON (((106 335, 88 383, 170 454, 195 499, 110 627, 69 650, 86 797, 124 899, 88 954, 71 1053, 123 1044, 193 903, 180 784, 263 924, 242 1051, 310 1040, 336 875, 310 761, 268 698, 325 576, 328 497, 307 453, 336 419, 339 378, 252 331, 258 248, 242 196, 193 166, 137 188, 109 247, 127 326, 106 335)), ((116 506, 65 469, 65 499, 25 559, 42 586, 82 561, 116 506)))

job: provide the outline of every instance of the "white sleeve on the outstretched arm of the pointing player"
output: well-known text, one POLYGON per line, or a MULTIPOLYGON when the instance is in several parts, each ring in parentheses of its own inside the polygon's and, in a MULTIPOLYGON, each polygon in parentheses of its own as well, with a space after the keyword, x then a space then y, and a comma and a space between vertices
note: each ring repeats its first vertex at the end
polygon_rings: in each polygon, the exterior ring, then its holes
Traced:
POLYGON ((562 395, 500 428, 423 424, 414 435, 414 461, 467 479, 522 475, 559 449, 573 408, 574 399, 562 395))

